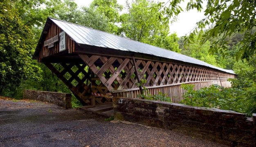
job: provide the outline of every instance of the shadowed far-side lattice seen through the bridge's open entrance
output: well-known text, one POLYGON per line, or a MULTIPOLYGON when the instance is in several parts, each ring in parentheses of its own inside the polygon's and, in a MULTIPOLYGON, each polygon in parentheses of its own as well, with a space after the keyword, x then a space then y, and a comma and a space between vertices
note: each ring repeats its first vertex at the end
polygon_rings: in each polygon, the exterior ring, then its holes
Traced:
POLYGON ((109 91, 100 81, 98 82, 99 85, 95 83, 94 73, 90 71, 86 64, 45 63, 45 65, 70 88, 83 105, 98 105, 112 101, 110 98, 92 96, 92 92, 107 94, 109 91))

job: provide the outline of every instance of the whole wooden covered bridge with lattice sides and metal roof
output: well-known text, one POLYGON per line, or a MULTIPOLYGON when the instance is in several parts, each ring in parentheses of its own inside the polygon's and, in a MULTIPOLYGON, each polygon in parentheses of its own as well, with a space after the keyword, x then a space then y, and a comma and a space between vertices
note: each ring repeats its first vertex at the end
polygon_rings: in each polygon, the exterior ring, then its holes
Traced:
POLYGON ((182 99, 182 83, 195 89, 212 84, 229 87, 232 70, 173 51, 54 18, 47 18, 33 56, 60 78, 83 105, 137 98, 142 87, 182 99), (146 81, 138 86, 141 80, 146 81))

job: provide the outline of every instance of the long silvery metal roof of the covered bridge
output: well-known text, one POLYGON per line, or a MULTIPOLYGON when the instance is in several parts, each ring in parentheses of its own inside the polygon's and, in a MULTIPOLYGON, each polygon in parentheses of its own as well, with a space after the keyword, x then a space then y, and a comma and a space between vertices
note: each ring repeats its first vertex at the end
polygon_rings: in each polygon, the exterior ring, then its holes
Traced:
POLYGON ((119 51, 144 53, 151 56, 158 56, 193 63, 196 65, 202 65, 205 67, 210 67, 227 73, 235 74, 233 70, 222 69, 220 67, 210 65, 201 60, 191 58, 189 56, 185 56, 174 51, 169 51, 167 49, 162 49, 160 47, 155 47, 153 45, 148 45, 135 40, 106 33, 103 31, 90 29, 87 27, 83 27, 81 25, 72 24, 70 22, 65 22, 63 20, 57 20, 54 18, 48 19, 52 20, 56 25, 58 25, 58 27, 65 31, 78 44, 117 49, 119 51))

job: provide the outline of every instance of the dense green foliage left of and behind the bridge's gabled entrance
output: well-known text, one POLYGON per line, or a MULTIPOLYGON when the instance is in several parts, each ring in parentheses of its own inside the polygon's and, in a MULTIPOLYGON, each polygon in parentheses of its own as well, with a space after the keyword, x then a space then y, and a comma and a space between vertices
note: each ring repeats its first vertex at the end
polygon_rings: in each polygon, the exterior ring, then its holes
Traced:
MULTIPOLYGON (((23 89, 71 93, 45 65, 31 60, 47 16, 102 31, 109 31, 110 20, 96 8, 78 9, 72 0, 4 0, 0 4, 0 95, 22 98, 23 89)), ((81 103, 73 96, 72 105, 81 103)))

